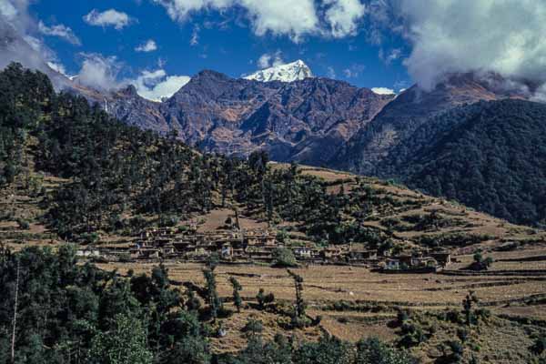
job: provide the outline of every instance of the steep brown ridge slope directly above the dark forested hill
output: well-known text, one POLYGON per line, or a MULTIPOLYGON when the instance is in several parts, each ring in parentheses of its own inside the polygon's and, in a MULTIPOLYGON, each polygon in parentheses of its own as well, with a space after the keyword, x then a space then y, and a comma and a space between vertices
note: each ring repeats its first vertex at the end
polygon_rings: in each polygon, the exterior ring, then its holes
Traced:
POLYGON ((329 165, 362 174, 377 174, 376 166, 421 125, 454 107, 481 100, 525 98, 498 76, 473 74, 451 76, 432 91, 412 86, 386 106, 368 126, 342 147, 329 165))

